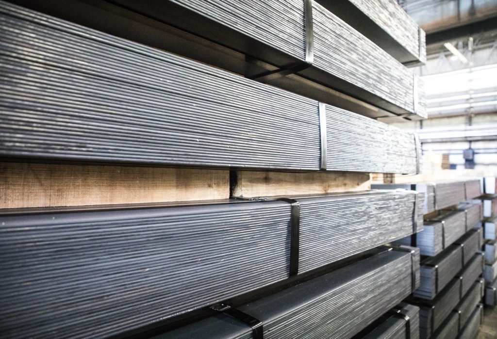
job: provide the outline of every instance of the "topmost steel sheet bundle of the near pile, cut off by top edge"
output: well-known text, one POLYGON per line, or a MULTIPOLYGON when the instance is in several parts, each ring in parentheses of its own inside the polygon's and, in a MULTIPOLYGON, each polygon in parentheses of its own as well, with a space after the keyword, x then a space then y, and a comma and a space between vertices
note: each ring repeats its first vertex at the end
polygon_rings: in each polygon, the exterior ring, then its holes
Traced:
POLYGON ((424 31, 395 1, 317 1, 401 63, 426 62, 424 31))

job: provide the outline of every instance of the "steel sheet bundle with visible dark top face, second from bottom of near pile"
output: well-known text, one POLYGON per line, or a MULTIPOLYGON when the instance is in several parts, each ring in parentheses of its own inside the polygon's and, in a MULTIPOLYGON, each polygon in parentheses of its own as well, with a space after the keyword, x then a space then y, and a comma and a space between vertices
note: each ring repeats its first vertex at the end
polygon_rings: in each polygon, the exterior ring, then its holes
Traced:
MULTIPOLYGON (((302 333, 312 338, 350 338, 411 293, 418 256, 418 252, 384 251, 236 309, 262 323, 264 338, 295 338, 302 333)), ((250 326, 221 312, 158 338, 251 338, 251 334, 250 326)))

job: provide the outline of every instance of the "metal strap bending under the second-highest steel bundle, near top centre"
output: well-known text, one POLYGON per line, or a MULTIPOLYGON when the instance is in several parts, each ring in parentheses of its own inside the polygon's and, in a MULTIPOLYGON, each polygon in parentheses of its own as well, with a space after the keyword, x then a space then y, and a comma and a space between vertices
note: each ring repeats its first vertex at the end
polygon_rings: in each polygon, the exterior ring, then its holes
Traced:
POLYGON ((248 76, 249 79, 259 82, 268 82, 289 74, 297 73, 309 68, 314 63, 314 23, 312 13, 312 0, 304 0, 305 34, 306 34, 306 55, 303 62, 298 62, 283 68, 264 71, 259 74, 248 76))

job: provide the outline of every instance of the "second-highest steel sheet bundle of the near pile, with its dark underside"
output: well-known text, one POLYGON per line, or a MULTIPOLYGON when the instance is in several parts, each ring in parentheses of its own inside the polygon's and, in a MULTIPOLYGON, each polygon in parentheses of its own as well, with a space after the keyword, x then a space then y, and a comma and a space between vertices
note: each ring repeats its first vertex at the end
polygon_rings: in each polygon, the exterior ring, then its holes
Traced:
MULTIPOLYGON (((43 7, 29 1, 17 2, 43 7)), ((177 54, 183 53, 188 58, 242 74, 245 74, 246 66, 251 66, 258 69, 247 74, 252 78, 271 81, 276 86, 313 97, 319 91, 307 81, 309 79, 340 92, 333 95, 333 91, 327 91, 327 97, 332 101, 328 102, 330 104, 341 103, 350 96, 343 106, 355 105, 364 109, 364 105, 354 103, 354 99, 359 99, 384 110, 380 116, 412 114, 426 117, 423 86, 418 85, 420 80, 415 78, 412 70, 315 1, 273 0, 256 5, 249 0, 112 2, 114 12, 144 14, 154 21, 156 27, 160 27, 158 22, 166 23, 195 34, 202 38, 197 42, 199 45, 208 40, 218 52, 206 57, 166 43, 165 48, 177 54), (230 51, 219 52, 224 49, 230 51), (221 61, 216 58, 219 54, 223 54, 221 61), (252 62, 247 62, 245 56, 249 56, 252 62), (259 69, 260 62, 267 64, 259 69), (283 71, 279 72, 280 69, 283 71), (389 76, 384 75, 386 69, 389 76), (301 77, 290 76, 289 80, 282 76, 294 72, 301 77), (272 76, 266 77, 267 73, 272 76)), ((101 1, 95 1, 94 6, 106 7, 101 1)), ((63 10, 71 16, 68 11, 71 9, 63 10)), ((83 20, 83 23, 106 26, 94 24, 91 20, 83 20)), ((415 43, 418 44, 419 40, 415 43)), ((378 110, 372 109, 371 114, 378 116, 378 110)))

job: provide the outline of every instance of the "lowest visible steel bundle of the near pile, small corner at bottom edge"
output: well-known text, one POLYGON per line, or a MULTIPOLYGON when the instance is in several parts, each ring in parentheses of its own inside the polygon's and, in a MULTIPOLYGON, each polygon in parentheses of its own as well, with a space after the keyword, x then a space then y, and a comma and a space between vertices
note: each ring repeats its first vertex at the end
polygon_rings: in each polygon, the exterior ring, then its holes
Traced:
POLYGON ((419 338, 419 307, 401 303, 357 334, 355 338, 419 338))

